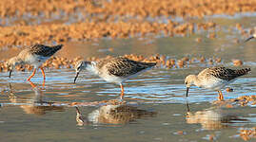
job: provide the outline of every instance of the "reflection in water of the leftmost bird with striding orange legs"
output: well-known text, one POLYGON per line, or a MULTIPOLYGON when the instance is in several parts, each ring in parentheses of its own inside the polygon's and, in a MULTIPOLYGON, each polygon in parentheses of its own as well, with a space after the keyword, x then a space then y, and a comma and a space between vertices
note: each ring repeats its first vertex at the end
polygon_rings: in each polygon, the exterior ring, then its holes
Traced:
POLYGON ((55 105, 54 102, 49 102, 44 97, 43 91, 30 81, 34 96, 32 98, 18 98, 13 93, 11 84, 9 98, 12 103, 19 105, 26 114, 45 115, 48 111, 64 111, 63 106, 55 105), (22 103, 20 103, 22 102, 22 103))

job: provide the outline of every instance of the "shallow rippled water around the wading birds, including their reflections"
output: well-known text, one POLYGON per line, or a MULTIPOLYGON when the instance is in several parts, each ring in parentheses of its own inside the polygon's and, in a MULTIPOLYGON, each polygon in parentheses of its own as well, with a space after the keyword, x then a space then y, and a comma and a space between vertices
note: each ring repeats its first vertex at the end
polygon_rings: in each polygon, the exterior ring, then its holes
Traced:
MULTIPOLYGON (((238 22, 248 27, 255 26, 254 17, 247 21, 245 19, 217 17, 211 20, 222 24, 222 28, 238 22)), ((229 87, 234 91, 227 93, 224 90, 224 97, 228 99, 255 95, 256 41, 237 44, 235 39, 243 41, 246 37, 240 37, 235 29, 224 31, 216 31, 217 38, 213 40, 207 38, 207 33, 199 31, 183 38, 148 36, 70 42, 57 55, 69 59, 76 56, 106 57, 130 53, 145 56, 159 53, 177 60, 186 56, 204 56, 207 59, 221 57, 222 62, 214 65, 231 68, 234 68, 232 60, 239 59, 244 62, 241 67, 249 66, 252 71, 231 83, 229 87), (195 42, 196 37, 203 38, 203 42, 195 42), (113 48, 113 51, 108 48, 113 48)), ((10 58, 19 51, 10 50, 1 51, 1 59, 10 58)), ((255 105, 226 108, 213 104, 217 100, 217 92, 196 87, 190 89, 188 98, 184 97, 184 78, 188 74, 197 74, 207 66, 210 65, 195 62, 185 68, 157 67, 128 80, 124 84, 127 104, 120 108, 102 101, 118 98, 119 86, 88 72, 81 74, 74 84, 73 69, 46 69, 45 86, 42 85, 40 71, 32 78, 33 84, 26 80, 30 72, 14 72, 11 79, 8 73, 2 72, 1 141, 242 141, 240 130, 256 126, 255 105), (86 124, 83 126, 76 123, 75 104, 85 117, 86 124)))

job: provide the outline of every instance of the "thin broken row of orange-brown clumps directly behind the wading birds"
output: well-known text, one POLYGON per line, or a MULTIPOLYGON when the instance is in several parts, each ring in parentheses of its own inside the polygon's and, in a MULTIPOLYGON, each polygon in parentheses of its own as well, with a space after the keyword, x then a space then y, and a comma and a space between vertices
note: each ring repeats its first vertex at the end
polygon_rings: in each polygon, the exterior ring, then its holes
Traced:
MULTIPOLYGON (((107 56, 105 57, 106 59, 112 58, 113 56, 107 56)), ((137 61, 137 62, 157 62, 157 66, 160 68, 184 68, 184 67, 188 67, 189 65, 195 65, 195 63, 204 63, 207 65, 218 65, 219 63, 222 62, 221 58, 218 57, 212 57, 212 58, 205 58, 205 57, 184 57, 181 59, 171 59, 171 58, 167 58, 166 55, 160 55, 160 54, 156 54, 156 55, 152 55, 152 56, 144 56, 144 55, 135 55, 135 54, 126 54, 123 55, 123 57, 126 57, 130 60, 133 61, 137 61)), ((99 57, 89 57, 87 59, 84 59, 82 57, 76 57, 74 59, 68 59, 66 57, 52 57, 50 58, 47 62, 45 62, 42 67, 47 67, 47 68, 55 68, 55 69, 59 69, 59 68, 71 68, 75 65, 76 62, 80 61, 80 60, 86 60, 86 61, 99 61, 105 58, 99 58, 99 57)), ((8 59, 3 60, 2 62, 0 62, 0 72, 7 72, 8 71, 8 67, 6 65, 6 62, 8 61, 8 59)), ((240 60, 236 60, 236 61, 240 61, 240 60)), ((242 61, 240 61, 242 62, 242 61)), ((243 64, 243 63, 242 63, 243 64)), ((242 64, 237 64, 236 62, 233 62, 234 66, 240 66, 242 64)), ((17 65, 15 67, 15 69, 17 71, 31 71, 33 69, 33 66, 30 64, 26 64, 26 65, 17 65)))

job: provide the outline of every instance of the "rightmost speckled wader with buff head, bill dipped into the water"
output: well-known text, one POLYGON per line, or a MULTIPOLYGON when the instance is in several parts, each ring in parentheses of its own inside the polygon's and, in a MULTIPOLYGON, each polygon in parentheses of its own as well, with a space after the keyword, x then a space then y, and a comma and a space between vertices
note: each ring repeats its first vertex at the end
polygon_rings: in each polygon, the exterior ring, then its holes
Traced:
POLYGON ((245 69, 228 69, 226 67, 210 67, 201 71, 197 76, 188 75, 185 79, 187 85, 187 94, 191 85, 198 87, 217 90, 219 98, 223 99, 221 89, 230 82, 234 81, 240 76, 246 75, 250 71, 250 68, 245 69))

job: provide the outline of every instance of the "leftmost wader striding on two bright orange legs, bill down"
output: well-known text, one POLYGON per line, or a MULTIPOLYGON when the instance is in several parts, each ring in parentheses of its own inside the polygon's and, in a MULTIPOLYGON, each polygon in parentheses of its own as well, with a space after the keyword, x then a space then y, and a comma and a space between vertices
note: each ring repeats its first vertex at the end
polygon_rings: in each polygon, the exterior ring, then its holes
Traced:
POLYGON ((63 46, 62 44, 53 45, 53 46, 47 46, 44 44, 34 44, 30 47, 25 48, 17 56, 11 58, 7 62, 7 65, 10 71, 9 78, 11 76, 12 70, 15 68, 16 65, 31 64, 34 66, 34 69, 32 74, 30 75, 30 78, 28 78, 28 80, 30 80, 34 76, 38 68, 41 69, 44 80, 46 80, 45 71, 41 67, 41 65, 42 63, 46 62, 49 59, 49 57, 51 57, 58 50, 60 50, 62 46, 63 46))

